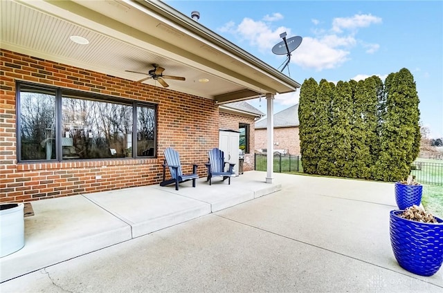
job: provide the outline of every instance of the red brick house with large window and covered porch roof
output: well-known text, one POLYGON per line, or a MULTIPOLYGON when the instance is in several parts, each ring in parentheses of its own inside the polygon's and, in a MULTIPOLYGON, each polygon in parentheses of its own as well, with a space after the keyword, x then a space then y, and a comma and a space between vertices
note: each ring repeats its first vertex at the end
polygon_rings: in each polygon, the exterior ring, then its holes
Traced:
POLYGON ((165 148, 203 166, 219 129, 253 129, 225 104, 300 87, 160 1, 0 12, 1 202, 158 184, 165 148))

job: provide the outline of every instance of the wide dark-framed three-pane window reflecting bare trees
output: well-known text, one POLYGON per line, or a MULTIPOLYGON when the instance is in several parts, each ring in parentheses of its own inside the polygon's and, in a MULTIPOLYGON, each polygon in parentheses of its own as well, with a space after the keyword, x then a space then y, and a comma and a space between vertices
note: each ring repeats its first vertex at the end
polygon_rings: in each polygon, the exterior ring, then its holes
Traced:
POLYGON ((17 88, 19 160, 132 157, 133 143, 134 147, 138 144, 136 155, 154 155, 153 106, 60 88, 28 84, 19 84, 17 88), (132 140, 134 114, 138 127, 135 142, 132 140), (61 154, 56 155, 56 151, 61 154))

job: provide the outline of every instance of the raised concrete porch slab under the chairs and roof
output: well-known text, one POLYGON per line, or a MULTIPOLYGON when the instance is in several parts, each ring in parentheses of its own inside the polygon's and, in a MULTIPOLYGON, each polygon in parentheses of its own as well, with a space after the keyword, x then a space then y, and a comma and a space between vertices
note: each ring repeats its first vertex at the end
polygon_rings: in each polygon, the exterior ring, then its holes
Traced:
POLYGON ((281 189, 266 184, 264 173, 228 182, 200 178, 184 182, 89 193, 32 202, 25 218, 25 246, 0 258, 1 282, 70 258, 150 234, 281 189))

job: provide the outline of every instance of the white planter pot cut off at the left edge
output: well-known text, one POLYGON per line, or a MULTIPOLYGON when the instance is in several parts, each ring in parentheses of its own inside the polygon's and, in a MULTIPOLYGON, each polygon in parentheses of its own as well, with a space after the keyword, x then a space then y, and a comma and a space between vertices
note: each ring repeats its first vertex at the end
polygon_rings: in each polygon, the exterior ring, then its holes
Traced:
POLYGON ((25 245, 23 203, 0 204, 0 257, 7 256, 25 245))

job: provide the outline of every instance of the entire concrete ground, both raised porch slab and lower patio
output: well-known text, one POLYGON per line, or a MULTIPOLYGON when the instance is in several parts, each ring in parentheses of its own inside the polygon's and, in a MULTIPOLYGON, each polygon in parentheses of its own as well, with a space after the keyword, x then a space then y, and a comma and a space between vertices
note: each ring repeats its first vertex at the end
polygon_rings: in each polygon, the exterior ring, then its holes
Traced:
POLYGON ((42 200, 39 203, 47 203, 33 204, 33 217, 37 219, 39 214, 41 220, 33 220, 32 226, 26 220, 26 229, 35 229, 32 233, 26 231, 26 246, 1 258, 2 280, 4 274, 12 276, 28 267, 26 263, 35 261, 33 258, 52 259, 58 254, 66 257, 72 252, 82 255, 3 282, 0 290, 443 292, 443 270, 431 277, 417 276, 395 261, 389 240, 389 211, 396 208, 393 184, 275 174, 275 183, 266 185, 264 177, 264 172, 246 172, 233 178, 230 186, 225 182, 209 189, 205 182, 197 182, 197 192, 185 183, 180 194, 173 187, 165 191, 163 187, 149 187, 146 191, 127 189, 131 192, 125 195, 122 190, 42 200), (271 189, 265 191, 266 188, 271 189), (157 191, 164 192, 160 198, 156 197, 157 191), (169 193, 181 200, 183 213, 177 214, 170 207, 169 193), (194 193, 198 193, 198 199, 190 197, 194 193), (260 197, 265 193, 271 194, 260 197), (153 199, 140 200, 143 196, 153 199), (223 203, 223 196, 237 200, 223 203), (238 198, 245 202, 235 205, 241 202, 238 198), (188 200, 195 200, 195 205, 188 200), (60 203, 53 205, 56 201, 60 203), (154 203, 161 203, 167 212, 150 207, 154 203), (64 214, 77 205, 88 208, 64 214), (228 205, 232 207, 223 209, 228 205), (189 210, 206 216, 189 220, 189 210), (141 216, 143 213, 146 216, 141 216), (60 214, 57 220, 62 222, 50 220, 54 219, 51 214, 60 214), (177 222, 187 220, 186 223, 167 229, 156 224, 155 219, 161 223, 163 217, 175 216, 177 222), (63 222, 63 218, 69 220, 63 222), (137 223, 145 224, 137 227, 137 223), (91 228, 86 229, 88 225, 91 228), (43 231, 42 226, 47 228, 43 231), (51 229, 57 233, 51 234, 51 229), (139 236, 146 232, 150 234, 139 236), (62 248, 63 243, 66 246, 62 248), (45 244, 45 251, 32 254, 28 250, 24 254, 28 246, 45 244), (84 247, 98 251, 85 254, 84 247))

